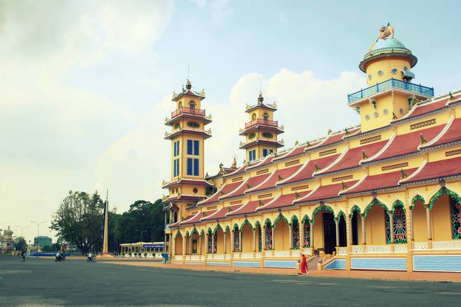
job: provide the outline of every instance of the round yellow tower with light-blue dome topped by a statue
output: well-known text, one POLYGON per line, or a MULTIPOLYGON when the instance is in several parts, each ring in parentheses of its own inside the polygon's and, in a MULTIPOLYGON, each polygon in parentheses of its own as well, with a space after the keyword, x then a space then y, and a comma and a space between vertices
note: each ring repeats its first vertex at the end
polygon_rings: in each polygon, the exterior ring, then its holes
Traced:
POLYGON ((418 59, 394 37, 394 27, 379 29, 359 68, 366 74, 367 88, 348 95, 348 105, 360 113, 362 132, 387 126, 411 109, 418 100, 434 96, 432 87, 411 83, 418 59))

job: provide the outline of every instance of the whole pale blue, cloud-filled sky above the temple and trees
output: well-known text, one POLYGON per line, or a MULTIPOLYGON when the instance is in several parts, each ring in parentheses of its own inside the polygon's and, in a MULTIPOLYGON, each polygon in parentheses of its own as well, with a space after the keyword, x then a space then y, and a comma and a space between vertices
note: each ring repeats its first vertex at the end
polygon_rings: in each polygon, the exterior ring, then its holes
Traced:
POLYGON ((277 102, 285 149, 359 123, 347 93, 381 24, 436 95, 461 89, 459 1, 0 0, 0 228, 50 231, 69 190, 122 213, 166 191, 163 122, 189 75, 212 114, 205 170, 244 151, 245 105, 277 102))

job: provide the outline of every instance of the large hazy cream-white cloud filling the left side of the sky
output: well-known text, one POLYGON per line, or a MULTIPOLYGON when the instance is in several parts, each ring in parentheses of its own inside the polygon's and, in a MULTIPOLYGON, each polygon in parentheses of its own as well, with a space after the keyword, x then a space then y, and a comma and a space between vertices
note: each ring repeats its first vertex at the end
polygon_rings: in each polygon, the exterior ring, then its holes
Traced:
POLYGON ((73 78, 152 59, 174 10, 173 1, 0 1, 0 225, 49 221, 67 190, 94 190, 95 157, 138 114, 73 78))

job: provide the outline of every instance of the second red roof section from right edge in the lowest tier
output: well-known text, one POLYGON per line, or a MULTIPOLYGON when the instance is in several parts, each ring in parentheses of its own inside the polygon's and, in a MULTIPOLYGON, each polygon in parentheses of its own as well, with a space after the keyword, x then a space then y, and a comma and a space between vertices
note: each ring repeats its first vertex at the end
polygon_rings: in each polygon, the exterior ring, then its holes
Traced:
MULTIPOLYGON (((416 167, 404 170, 407 176, 410 176, 415 171, 416 167)), ((402 172, 400 170, 395 172, 388 172, 385 174, 367 176, 365 179, 360 181, 360 184, 353 188, 349 188, 348 190, 344 190, 341 195, 371 192, 374 190, 383 190, 387 188, 397 188, 399 186, 400 179, 402 179, 402 172)))

